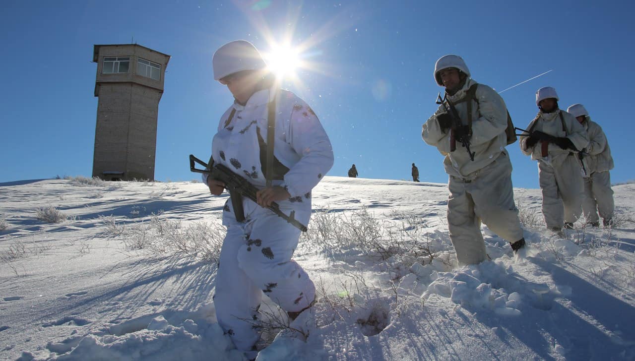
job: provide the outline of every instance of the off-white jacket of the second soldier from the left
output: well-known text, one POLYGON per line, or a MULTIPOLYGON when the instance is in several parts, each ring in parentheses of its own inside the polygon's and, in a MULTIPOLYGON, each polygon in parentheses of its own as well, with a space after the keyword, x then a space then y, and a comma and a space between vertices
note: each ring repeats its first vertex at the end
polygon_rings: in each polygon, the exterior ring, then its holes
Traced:
MULTIPOLYGON (((467 102, 460 102, 465 96, 467 89, 476 84, 472 79, 465 82, 455 95, 448 96, 451 103, 455 104, 458 116, 463 124, 467 125, 467 102)), ((443 105, 430 117, 422 126, 421 136, 425 143, 437 147, 439 152, 445 155, 443 164, 446 173, 458 178, 470 178, 470 174, 483 169, 498 156, 505 152, 507 145, 507 106, 503 98, 485 84, 479 84, 476 88, 476 97, 479 102, 472 102, 472 138, 470 140, 470 150, 474 152, 474 161, 470 160, 467 150, 462 147, 459 140, 456 141, 457 148, 450 152, 450 131, 441 130, 436 116, 445 112, 443 105)))

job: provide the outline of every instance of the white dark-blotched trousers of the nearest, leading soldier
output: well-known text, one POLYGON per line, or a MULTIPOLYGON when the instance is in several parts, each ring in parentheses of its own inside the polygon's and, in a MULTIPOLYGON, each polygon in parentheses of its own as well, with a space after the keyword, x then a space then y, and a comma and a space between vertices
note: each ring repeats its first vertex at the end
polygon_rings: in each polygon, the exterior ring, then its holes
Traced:
POLYGON ((300 230, 263 208, 245 223, 227 215, 214 295, 216 316, 237 350, 250 351, 260 337, 254 325, 263 292, 284 311, 297 312, 313 301, 315 286, 291 260, 300 230))

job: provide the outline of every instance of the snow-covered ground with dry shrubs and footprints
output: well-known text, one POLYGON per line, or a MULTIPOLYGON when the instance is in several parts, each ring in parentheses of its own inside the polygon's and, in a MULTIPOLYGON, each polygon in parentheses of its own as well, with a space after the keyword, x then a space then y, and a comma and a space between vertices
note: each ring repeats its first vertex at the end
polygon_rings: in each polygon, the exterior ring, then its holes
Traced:
MULTIPOLYGON (((295 254, 314 318, 279 332, 265 301, 258 360, 632 360, 635 185, 613 189, 615 229, 565 238, 540 191, 516 189, 526 251, 484 227, 491 261, 457 267, 446 185, 326 177, 295 254)), ((226 199, 190 182, 0 183, 0 358, 242 360, 212 301, 226 199), (39 220, 46 207, 68 218, 39 220)))

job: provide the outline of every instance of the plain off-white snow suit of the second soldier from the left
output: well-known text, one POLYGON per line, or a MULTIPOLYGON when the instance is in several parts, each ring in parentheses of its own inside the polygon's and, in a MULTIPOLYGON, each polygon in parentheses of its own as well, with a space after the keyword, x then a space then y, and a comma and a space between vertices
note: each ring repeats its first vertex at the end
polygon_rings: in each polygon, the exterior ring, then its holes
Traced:
MULTIPOLYGON (((467 125, 467 89, 476 84, 472 79, 448 99, 455 104, 460 119, 467 125), (457 103, 458 102, 458 103, 457 103)), ((422 138, 445 155, 443 164, 450 175, 448 188, 448 228, 450 240, 462 264, 485 261, 485 241, 481 221, 493 232, 509 242, 523 238, 512 188, 512 164, 507 145, 507 107, 503 99, 489 86, 479 84, 478 103, 472 102, 471 151, 474 161, 460 141, 450 152, 450 131, 441 130, 436 115, 445 112, 443 106, 428 119, 422 128, 422 138)))

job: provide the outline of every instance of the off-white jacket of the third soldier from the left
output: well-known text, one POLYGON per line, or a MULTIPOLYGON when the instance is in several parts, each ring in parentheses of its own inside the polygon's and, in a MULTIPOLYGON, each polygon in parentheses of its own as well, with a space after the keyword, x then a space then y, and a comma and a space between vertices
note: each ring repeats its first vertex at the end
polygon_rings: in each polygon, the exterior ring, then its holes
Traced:
MULTIPOLYGON (((582 124, 580 124, 573 115, 565 112, 564 110, 557 109, 551 113, 543 113, 540 111, 535 119, 529 123, 526 129, 531 129, 532 131, 542 131, 543 133, 547 133, 548 135, 558 138, 569 138, 577 150, 582 150, 582 148, 586 147, 589 143, 589 135, 582 124), (563 129, 559 113, 562 113, 565 120, 565 129, 563 129)), ((547 157, 542 157, 542 142, 538 141, 532 148, 526 148, 526 142, 528 139, 528 136, 519 137, 520 149, 523 153, 525 155, 531 155, 531 159, 533 160, 545 161, 552 166, 559 166, 563 161, 565 161, 567 155, 571 152, 575 152, 575 150, 562 149, 554 143, 549 143, 547 157)))

